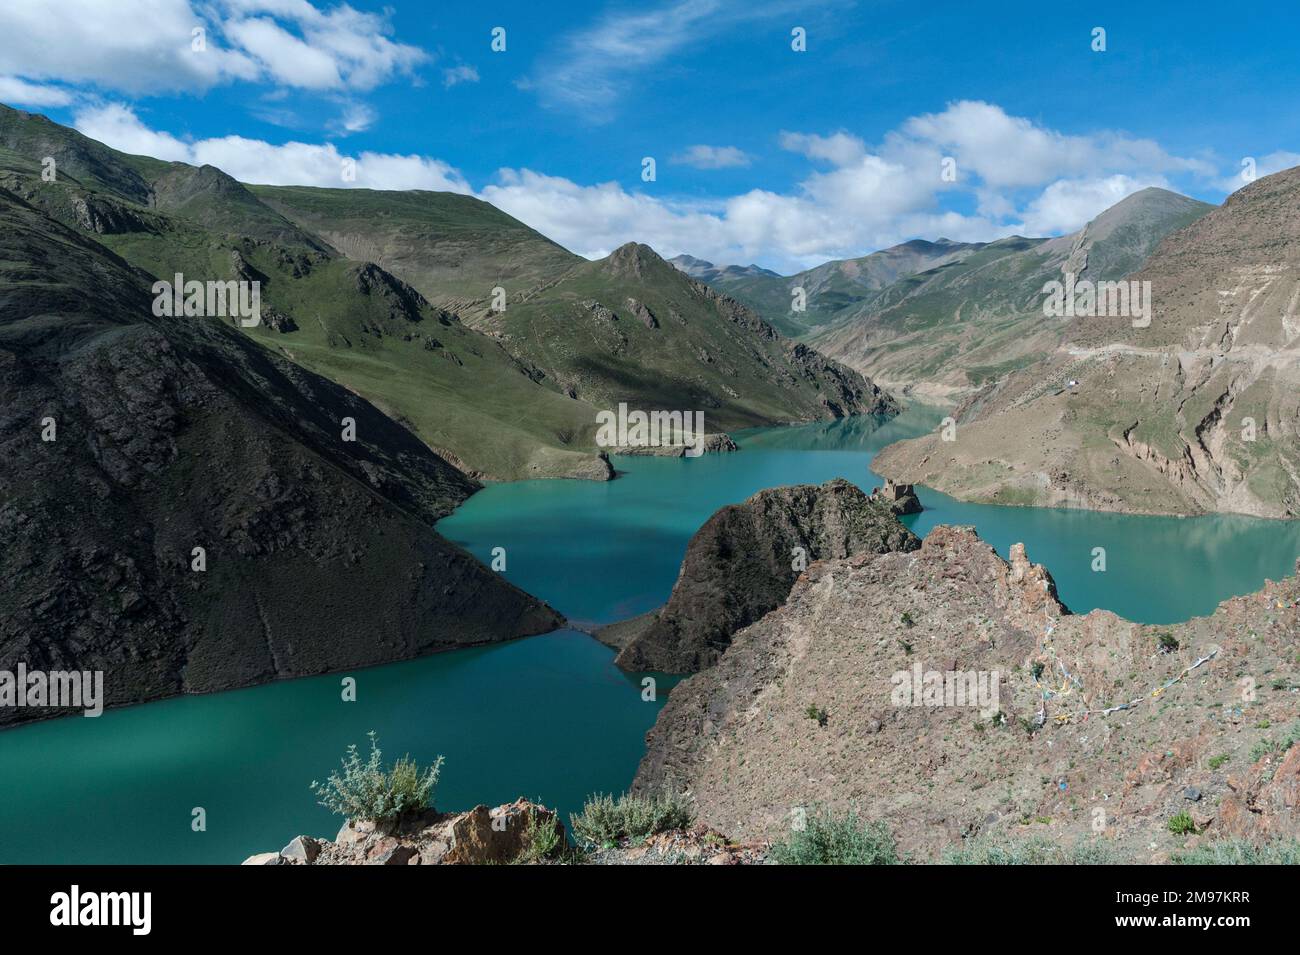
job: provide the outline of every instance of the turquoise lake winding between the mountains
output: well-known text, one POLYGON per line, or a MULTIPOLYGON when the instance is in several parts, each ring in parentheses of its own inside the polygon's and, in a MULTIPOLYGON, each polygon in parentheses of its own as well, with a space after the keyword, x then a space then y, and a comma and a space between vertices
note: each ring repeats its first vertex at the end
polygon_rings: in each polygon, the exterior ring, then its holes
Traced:
MULTIPOLYGON (((439 525, 576 626, 664 602, 686 541, 719 507, 764 487, 844 477, 879 481, 872 455, 935 425, 914 409, 736 435, 741 451, 699 459, 619 457, 608 483, 495 485, 439 525)), ((1300 522, 1164 518, 962 504, 919 489, 924 535, 970 524, 1006 555, 1024 542, 1075 612, 1105 607, 1144 622, 1209 613, 1219 600, 1294 572, 1300 522), (1092 550, 1106 548, 1106 572, 1092 550)), ((524 795, 559 807, 630 782, 672 680, 644 702, 640 676, 564 630, 343 674, 188 696, 0 732, 0 863, 237 863, 339 820, 308 789, 348 743, 376 730, 387 758, 446 756, 437 803, 464 808, 524 795), (207 830, 191 830, 191 811, 207 830)))

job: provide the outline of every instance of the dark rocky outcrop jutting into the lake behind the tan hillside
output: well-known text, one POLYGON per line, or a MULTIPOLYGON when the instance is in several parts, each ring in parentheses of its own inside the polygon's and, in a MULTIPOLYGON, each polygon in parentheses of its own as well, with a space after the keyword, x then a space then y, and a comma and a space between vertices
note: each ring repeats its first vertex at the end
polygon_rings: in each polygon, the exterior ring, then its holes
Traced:
POLYGON ((616 663, 624 669, 692 673, 779 607, 809 563, 919 546, 888 505, 848 481, 759 491, 696 531, 660 611, 597 637, 621 647, 616 663))

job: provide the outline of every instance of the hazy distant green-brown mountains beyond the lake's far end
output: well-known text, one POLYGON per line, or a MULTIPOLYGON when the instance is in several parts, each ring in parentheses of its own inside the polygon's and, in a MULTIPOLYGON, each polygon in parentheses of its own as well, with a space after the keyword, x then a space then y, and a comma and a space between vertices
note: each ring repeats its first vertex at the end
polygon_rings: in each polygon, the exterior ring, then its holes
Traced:
POLYGON ((1065 324, 1044 321, 1046 282, 1122 278, 1212 208, 1147 188, 1054 239, 914 240, 784 278, 715 268, 705 281, 885 387, 952 401, 1056 348, 1065 324), (796 287, 806 312, 790 311, 796 287))

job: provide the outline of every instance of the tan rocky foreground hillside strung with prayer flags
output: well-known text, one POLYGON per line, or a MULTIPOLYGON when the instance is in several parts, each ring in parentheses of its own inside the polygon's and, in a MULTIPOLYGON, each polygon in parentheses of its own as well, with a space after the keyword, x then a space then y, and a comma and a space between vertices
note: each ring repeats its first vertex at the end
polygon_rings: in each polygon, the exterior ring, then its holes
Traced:
POLYGON ((1023 547, 1005 561, 974 529, 940 526, 916 551, 811 565, 673 690, 636 789, 684 789, 736 838, 857 806, 918 859, 1032 832, 1162 861, 1183 809, 1197 838, 1295 837, 1297 634, 1294 577, 1144 626, 1071 615, 1023 547), (974 704, 931 694, 946 674, 975 680, 974 704))

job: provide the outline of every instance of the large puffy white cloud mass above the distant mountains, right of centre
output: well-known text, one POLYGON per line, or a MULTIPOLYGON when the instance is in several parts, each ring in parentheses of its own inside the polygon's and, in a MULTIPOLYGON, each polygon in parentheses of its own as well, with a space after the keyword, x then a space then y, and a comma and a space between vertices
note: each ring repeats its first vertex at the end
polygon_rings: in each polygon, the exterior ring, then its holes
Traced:
POLYGON ((845 130, 786 130, 777 142, 819 166, 789 191, 701 204, 525 169, 503 172, 482 196, 588 256, 638 239, 664 255, 794 270, 916 236, 1070 233, 1140 188, 1167 187, 1167 175, 1212 172, 1153 140, 1065 135, 976 101, 913 117, 876 144, 845 130))

